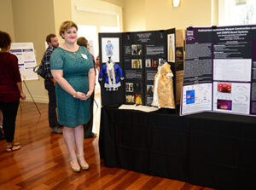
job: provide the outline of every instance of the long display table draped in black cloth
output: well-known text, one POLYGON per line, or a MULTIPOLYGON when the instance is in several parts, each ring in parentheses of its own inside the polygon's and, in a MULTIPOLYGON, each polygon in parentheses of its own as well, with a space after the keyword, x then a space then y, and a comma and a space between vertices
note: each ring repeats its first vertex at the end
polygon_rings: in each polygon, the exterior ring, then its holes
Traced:
POLYGON ((218 189, 255 188, 254 117, 102 107, 99 148, 107 167, 218 189))

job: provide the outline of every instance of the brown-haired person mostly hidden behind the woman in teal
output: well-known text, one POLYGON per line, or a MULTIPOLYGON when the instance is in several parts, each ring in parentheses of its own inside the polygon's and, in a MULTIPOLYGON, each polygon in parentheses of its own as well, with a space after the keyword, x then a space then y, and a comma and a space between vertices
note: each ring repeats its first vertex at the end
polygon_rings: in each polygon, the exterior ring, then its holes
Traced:
MULTIPOLYGON (((78 42, 79 46, 84 46, 86 49, 90 51, 90 47, 88 44, 88 40, 85 37, 79 37, 78 42)), ((94 68, 96 68, 95 58, 92 54, 90 54, 94 63, 94 68)), ((96 72, 96 70, 95 70, 96 72)), ((93 103, 94 103, 94 91, 90 96, 90 120, 87 124, 84 124, 84 138, 91 138, 96 136, 95 133, 92 132, 93 127, 93 103)))

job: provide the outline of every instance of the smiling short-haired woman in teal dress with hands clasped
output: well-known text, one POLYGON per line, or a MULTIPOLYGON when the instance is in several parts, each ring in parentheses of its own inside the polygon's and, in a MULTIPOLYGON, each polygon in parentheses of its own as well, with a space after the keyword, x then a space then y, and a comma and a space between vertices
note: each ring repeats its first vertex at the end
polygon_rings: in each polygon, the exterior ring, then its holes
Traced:
POLYGON ((55 86, 59 124, 75 172, 89 169, 84 159, 84 129, 90 119, 90 95, 94 91, 95 72, 90 52, 77 44, 78 26, 64 21, 60 35, 64 43, 50 57, 55 86), (76 148, 75 148, 76 147, 76 148), (77 149, 77 153, 75 150, 77 149))

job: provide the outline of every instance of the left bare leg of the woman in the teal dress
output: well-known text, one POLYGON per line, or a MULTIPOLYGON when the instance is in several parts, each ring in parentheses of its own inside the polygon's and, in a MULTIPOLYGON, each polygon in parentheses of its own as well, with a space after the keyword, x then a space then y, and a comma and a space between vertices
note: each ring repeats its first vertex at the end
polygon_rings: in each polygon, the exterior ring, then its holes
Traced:
POLYGON ((79 167, 79 163, 78 163, 76 152, 75 152, 75 135, 74 135, 75 129, 76 129, 76 127, 71 128, 71 127, 64 126, 63 137, 64 137, 64 141, 66 143, 67 150, 69 153, 70 164, 73 167, 79 167))

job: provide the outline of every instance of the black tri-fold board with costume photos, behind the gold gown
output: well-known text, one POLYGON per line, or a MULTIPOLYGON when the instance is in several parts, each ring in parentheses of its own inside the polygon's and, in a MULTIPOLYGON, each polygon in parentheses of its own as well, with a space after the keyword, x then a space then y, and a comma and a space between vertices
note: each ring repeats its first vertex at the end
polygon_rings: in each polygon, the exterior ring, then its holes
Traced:
MULTIPOLYGON (((183 31, 100 33, 102 106, 137 104, 150 106, 154 76, 160 62, 171 65, 176 103, 180 102, 183 77, 183 31), (110 66, 114 63, 113 71, 110 66), (106 66, 107 65, 107 66, 106 66), (108 88, 110 77, 117 88, 108 88), (108 79, 109 78, 109 79, 108 79), (176 90, 176 89, 179 90, 176 90)), ((113 84, 112 84, 113 85, 113 84)))

